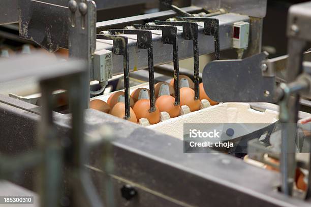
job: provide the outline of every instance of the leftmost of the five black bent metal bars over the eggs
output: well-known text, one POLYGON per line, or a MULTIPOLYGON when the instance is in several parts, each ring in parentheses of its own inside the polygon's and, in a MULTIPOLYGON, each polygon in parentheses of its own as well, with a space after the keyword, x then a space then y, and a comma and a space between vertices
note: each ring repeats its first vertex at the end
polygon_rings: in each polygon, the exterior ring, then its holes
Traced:
POLYGON ((130 119, 130 70, 129 70, 129 41, 127 37, 110 34, 97 34, 97 39, 113 40, 113 53, 123 55, 125 119, 130 119))

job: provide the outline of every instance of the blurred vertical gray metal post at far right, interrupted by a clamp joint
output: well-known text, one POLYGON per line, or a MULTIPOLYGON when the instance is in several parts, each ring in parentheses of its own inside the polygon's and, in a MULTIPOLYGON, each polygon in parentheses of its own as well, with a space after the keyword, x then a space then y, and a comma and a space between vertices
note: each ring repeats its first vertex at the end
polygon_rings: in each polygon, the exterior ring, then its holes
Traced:
MULTIPOLYGON (((294 38, 289 40, 289 58, 287 66, 288 82, 293 82, 297 76, 302 73, 304 46, 305 41, 296 40, 294 38)), ((288 101, 283 103, 283 105, 280 105, 280 120, 283 123, 281 150, 282 191, 287 195, 292 195, 296 172, 295 141, 299 111, 299 95, 291 95, 288 97, 288 101), (282 111, 282 108, 287 110, 287 114, 284 110, 282 111), (286 115, 286 119, 282 118, 282 116, 285 117, 286 115)))

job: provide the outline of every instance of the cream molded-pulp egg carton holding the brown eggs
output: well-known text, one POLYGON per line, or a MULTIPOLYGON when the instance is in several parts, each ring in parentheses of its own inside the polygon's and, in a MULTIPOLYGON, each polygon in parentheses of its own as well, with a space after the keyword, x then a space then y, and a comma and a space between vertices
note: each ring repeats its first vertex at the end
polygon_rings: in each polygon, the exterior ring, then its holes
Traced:
MULTIPOLYGON (((130 94, 138 88, 149 89, 149 84, 144 83, 131 87, 130 94)), ((91 98, 91 100, 100 99, 107 102, 109 96, 112 93, 114 92, 91 98)), ((264 112, 259 112, 251 109, 251 106, 248 103, 226 102, 211 106, 208 100, 202 100, 201 110, 199 111, 190 112, 188 106, 181 106, 180 116, 178 117, 170 118, 168 113, 161 112, 161 122, 159 122, 158 124, 150 125, 147 119, 140 119, 139 124, 152 130, 159 131, 182 140, 184 123, 271 124, 276 122, 277 120, 277 112, 272 110, 265 110, 264 112)))

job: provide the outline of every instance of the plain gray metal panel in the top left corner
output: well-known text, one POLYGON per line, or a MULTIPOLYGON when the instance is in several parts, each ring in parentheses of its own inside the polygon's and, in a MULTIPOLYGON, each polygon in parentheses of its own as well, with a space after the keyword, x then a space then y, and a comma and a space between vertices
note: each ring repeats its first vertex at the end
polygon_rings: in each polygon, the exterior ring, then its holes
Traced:
POLYGON ((0 25, 18 22, 18 0, 0 1, 0 25))

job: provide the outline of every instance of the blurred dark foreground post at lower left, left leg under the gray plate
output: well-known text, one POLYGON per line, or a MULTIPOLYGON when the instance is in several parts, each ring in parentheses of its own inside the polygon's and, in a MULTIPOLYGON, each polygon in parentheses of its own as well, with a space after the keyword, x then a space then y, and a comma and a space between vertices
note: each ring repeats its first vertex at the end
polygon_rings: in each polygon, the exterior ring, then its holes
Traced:
POLYGON ((40 83, 42 89, 42 122, 38 147, 44 152, 44 161, 39 165, 39 193, 41 206, 57 206, 60 198, 61 167, 63 157, 58 146, 56 128, 53 123, 54 100, 47 82, 40 83))

